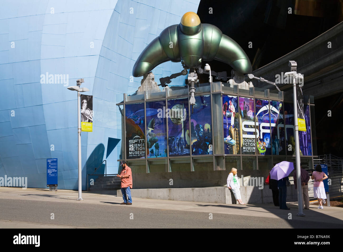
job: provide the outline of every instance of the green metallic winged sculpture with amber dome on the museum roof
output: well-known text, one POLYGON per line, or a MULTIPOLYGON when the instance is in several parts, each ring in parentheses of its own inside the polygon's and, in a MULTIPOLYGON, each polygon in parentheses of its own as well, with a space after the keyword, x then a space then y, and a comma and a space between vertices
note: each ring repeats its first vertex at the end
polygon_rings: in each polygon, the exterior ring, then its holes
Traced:
MULTIPOLYGON (((222 61, 244 74, 252 71, 250 60, 244 50, 218 27, 201 24, 199 16, 194 12, 185 13, 180 24, 167 27, 159 37, 145 47, 133 66, 132 75, 143 76, 157 65, 169 60, 181 61, 185 68, 182 73, 184 75, 187 74, 186 69, 190 69, 189 85, 193 83, 190 78, 197 80, 195 69, 201 69, 202 61, 222 61)), ((192 88, 194 85, 191 87, 193 97, 192 88)))

